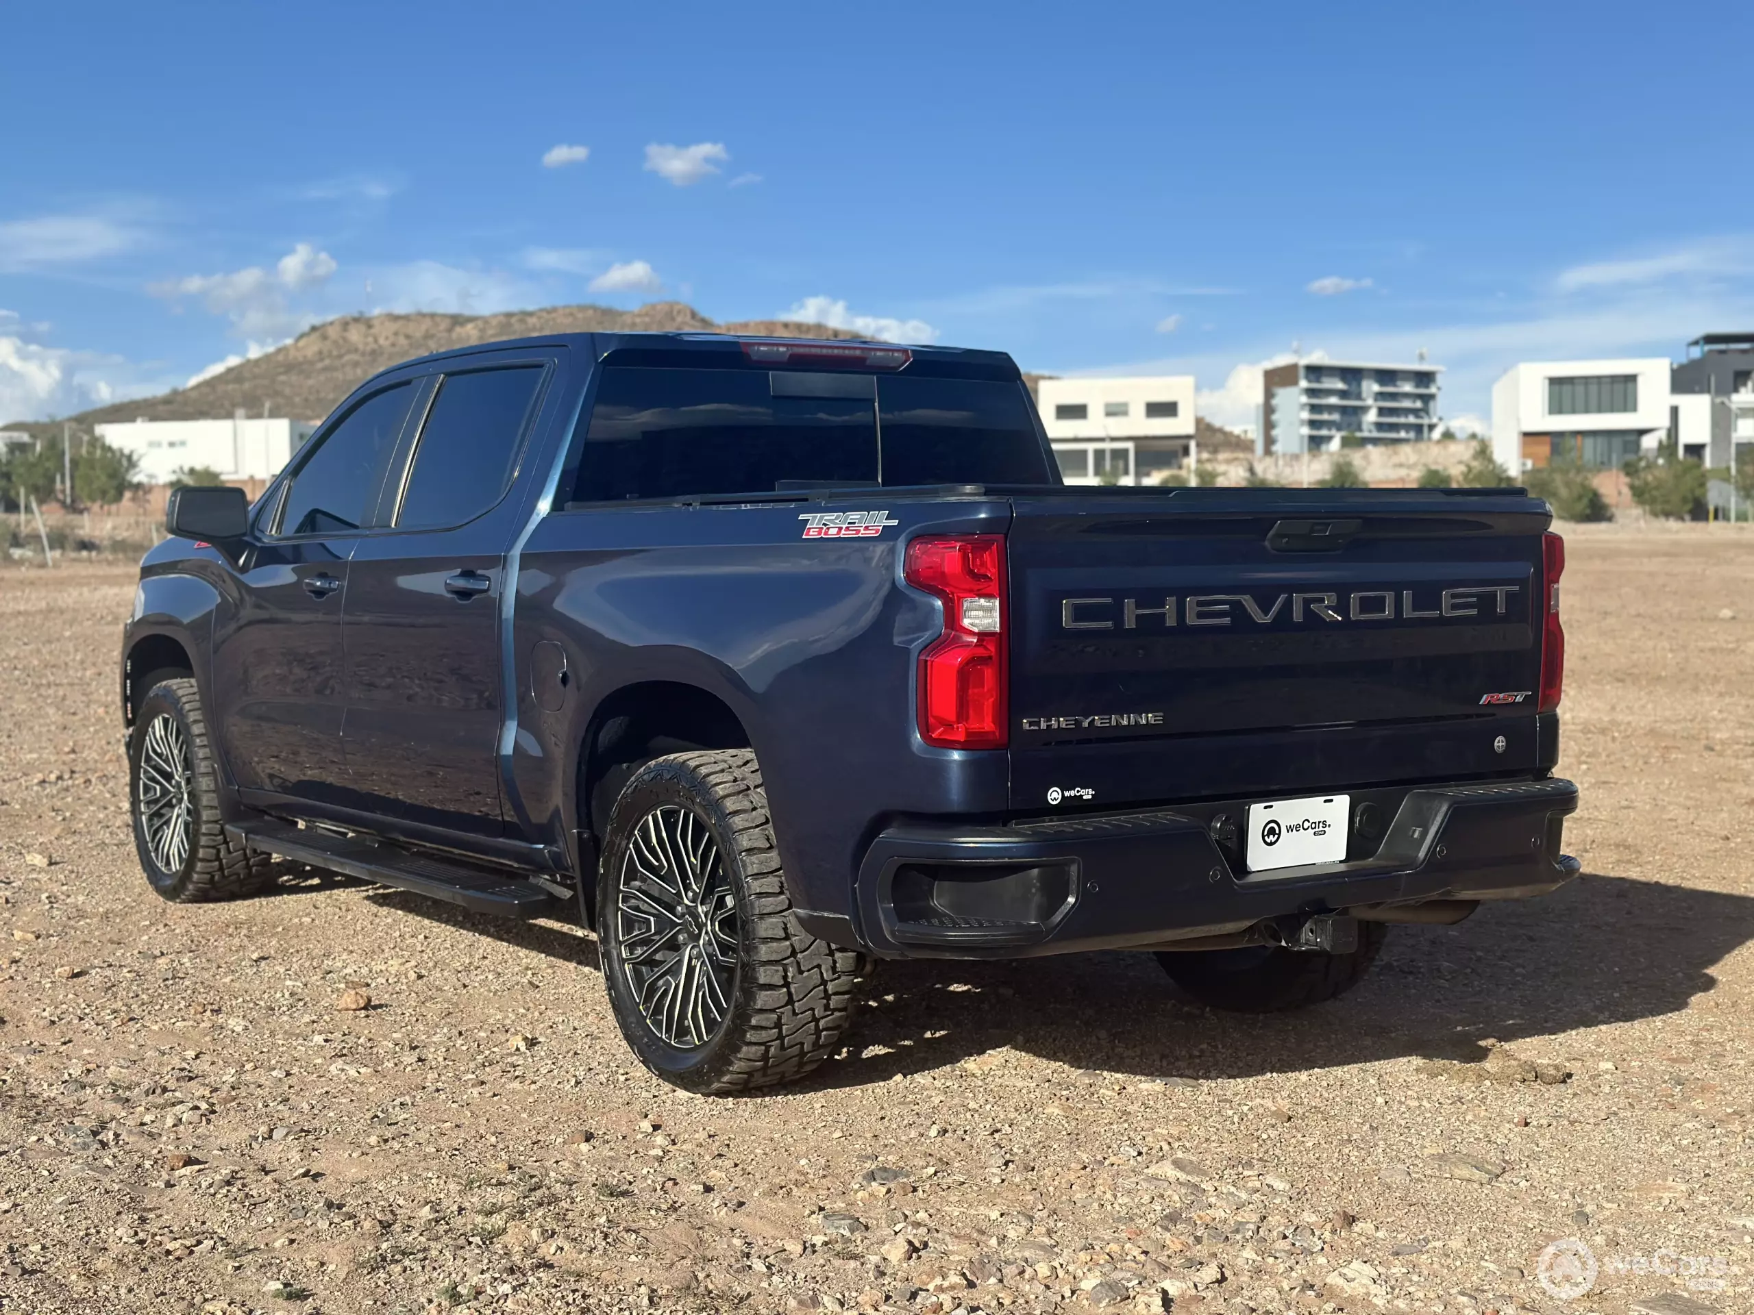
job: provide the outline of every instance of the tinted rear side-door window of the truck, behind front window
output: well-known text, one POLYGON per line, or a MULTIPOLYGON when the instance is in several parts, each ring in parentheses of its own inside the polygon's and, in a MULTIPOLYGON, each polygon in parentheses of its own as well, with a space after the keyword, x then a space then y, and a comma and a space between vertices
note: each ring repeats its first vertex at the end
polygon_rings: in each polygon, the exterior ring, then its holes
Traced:
POLYGON ((444 377, 414 449, 400 530, 449 530, 505 496, 540 384, 540 365, 444 377))

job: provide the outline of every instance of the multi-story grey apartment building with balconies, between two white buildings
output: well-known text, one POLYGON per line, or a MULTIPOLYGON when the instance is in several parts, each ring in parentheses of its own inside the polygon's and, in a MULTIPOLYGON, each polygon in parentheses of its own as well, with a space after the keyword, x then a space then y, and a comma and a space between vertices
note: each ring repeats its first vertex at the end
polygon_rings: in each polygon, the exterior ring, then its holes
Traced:
POLYGON ((1345 435, 1365 444, 1437 437, 1438 375, 1444 366, 1293 361, 1261 375, 1254 451, 1324 452, 1345 435))

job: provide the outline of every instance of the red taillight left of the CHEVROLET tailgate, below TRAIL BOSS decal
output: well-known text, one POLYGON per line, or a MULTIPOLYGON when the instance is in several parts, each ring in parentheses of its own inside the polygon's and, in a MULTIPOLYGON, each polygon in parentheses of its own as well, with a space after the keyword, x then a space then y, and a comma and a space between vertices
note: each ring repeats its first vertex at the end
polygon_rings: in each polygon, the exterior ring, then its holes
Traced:
POLYGON ((916 538, 907 582, 944 603, 944 635, 919 656, 919 735, 940 749, 1003 749, 1005 537, 916 538))

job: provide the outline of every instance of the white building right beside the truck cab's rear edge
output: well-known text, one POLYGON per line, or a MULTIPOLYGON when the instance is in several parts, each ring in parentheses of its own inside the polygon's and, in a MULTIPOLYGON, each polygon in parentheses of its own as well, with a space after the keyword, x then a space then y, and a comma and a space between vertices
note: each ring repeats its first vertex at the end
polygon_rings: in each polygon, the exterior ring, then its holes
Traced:
POLYGON ((1193 375, 1044 379, 1037 389, 1066 484, 1156 484, 1198 461, 1193 375))

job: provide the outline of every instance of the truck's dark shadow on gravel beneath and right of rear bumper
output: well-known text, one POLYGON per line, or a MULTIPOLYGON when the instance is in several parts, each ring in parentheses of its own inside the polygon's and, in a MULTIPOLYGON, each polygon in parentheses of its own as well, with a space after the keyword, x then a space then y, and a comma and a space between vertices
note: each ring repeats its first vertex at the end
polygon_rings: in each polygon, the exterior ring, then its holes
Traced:
MULTIPOLYGON (((1149 954, 886 963, 849 1052, 812 1082, 882 1082, 1000 1047, 1068 1064, 1086 1080, 1475 1061, 1489 1038, 1537 1040, 1684 1010, 1714 989, 1712 966, 1749 940, 1754 898, 1586 875, 1544 899, 1484 905, 1456 928, 1393 928, 1363 984, 1296 1013, 1189 1003, 1149 954)), ((1563 1059, 1563 1047, 1549 1057, 1563 1059)))

